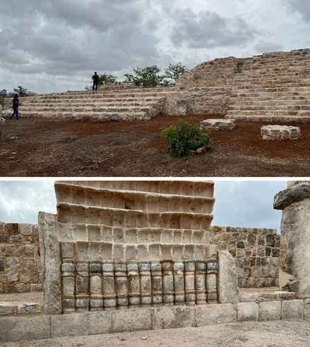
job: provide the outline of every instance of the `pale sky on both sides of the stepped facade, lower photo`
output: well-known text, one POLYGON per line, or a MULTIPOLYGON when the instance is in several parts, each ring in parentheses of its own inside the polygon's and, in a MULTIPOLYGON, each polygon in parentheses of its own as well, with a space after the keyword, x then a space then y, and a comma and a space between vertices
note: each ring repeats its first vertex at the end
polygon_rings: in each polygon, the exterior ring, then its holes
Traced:
MULTIPOLYGON (((0 181, 0 221, 36 223, 37 212, 55 213, 53 180, 0 181)), ((273 196, 284 181, 218 181, 213 225, 277 228, 281 211, 273 210, 273 196)))

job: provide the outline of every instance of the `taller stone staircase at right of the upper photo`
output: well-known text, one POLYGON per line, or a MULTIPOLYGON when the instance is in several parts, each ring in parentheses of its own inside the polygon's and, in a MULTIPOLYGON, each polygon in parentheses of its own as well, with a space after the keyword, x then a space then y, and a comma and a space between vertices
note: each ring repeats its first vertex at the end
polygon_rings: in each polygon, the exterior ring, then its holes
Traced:
POLYGON ((310 51, 266 53, 247 59, 234 74, 226 117, 310 121, 310 51))

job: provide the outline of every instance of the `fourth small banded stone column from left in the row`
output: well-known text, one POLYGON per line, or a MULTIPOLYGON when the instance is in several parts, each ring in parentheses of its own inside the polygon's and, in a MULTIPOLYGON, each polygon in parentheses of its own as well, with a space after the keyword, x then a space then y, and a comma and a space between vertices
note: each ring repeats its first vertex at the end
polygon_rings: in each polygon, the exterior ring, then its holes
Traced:
POLYGON ((107 261, 102 264, 103 271, 103 307, 105 310, 115 310, 117 293, 115 290, 114 263, 107 261))

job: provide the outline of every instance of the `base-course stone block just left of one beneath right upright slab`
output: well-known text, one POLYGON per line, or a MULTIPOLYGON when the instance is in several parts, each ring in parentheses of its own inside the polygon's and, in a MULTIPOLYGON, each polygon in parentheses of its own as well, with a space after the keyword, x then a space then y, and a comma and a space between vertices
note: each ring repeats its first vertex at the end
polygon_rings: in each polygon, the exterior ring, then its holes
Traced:
POLYGON ((156 307, 153 312, 153 329, 185 328, 193 326, 194 323, 194 307, 156 307))

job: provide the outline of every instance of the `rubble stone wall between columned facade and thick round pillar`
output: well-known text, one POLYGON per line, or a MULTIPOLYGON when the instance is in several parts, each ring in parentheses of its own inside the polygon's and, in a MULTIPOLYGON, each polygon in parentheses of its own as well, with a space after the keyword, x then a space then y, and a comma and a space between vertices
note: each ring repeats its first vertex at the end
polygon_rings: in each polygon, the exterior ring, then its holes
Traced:
POLYGON ((280 235, 274 229, 213 226, 211 244, 236 259, 239 287, 279 285, 280 235))

